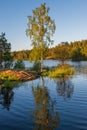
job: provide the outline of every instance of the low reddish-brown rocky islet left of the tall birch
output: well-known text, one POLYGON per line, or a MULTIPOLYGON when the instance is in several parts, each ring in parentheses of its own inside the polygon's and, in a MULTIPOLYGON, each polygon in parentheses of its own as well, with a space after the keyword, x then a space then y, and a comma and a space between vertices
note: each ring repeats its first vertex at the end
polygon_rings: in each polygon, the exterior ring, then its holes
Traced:
POLYGON ((38 77, 35 71, 7 69, 0 71, 0 80, 28 81, 38 77))

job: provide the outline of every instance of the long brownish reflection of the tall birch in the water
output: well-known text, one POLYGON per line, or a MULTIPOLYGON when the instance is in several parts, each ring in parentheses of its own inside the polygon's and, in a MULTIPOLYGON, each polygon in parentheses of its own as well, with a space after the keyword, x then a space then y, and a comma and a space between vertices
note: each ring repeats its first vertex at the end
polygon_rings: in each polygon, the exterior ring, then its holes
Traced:
POLYGON ((48 89, 44 86, 43 78, 42 86, 33 86, 32 92, 35 99, 34 130, 54 130, 60 125, 59 113, 54 109, 55 101, 52 100, 48 89))

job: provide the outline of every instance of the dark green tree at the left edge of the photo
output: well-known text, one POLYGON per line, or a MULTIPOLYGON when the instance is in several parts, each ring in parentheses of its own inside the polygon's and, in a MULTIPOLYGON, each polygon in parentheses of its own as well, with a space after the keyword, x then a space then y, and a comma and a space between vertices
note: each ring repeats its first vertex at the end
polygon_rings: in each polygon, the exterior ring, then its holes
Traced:
POLYGON ((5 33, 0 35, 0 64, 4 62, 4 68, 10 68, 12 64, 11 44, 5 38, 5 33))

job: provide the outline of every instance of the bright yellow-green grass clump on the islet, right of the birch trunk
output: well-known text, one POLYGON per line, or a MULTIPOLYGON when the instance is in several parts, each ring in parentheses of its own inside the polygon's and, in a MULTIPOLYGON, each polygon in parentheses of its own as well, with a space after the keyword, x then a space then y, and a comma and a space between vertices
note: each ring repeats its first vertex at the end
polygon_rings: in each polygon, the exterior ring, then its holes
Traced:
POLYGON ((59 65, 57 68, 53 69, 52 71, 49 72, 49 77, 64 77, 68 75, 73 75, 74 74, 74 67, 64 64, 64 65, 59 65))

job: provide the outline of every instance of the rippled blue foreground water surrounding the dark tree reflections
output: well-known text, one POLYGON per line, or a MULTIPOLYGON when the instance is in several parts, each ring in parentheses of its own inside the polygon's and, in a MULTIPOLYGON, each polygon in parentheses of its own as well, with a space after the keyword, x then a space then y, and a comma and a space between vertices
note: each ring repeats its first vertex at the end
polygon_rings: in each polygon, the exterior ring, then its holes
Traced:
MULTIPOLYGON (((41 86, 41 79, 25 82, 13 88, 14 97, 9 110, 2 109, 3 104, 0 104, 1 130, 33 130, 33 112, 36 107, 32 86, 36 87, 38 84, 41 86)), ((54 111, 59 114, 60 126, 55 130, 87 130, 87 77, 77 75, 70 79, 73 91, 70 96, 65 97, 57 91, 58 81, 45 78, 44 85, 55 102, 54 111)), ((61 91, 67 94, 68 89, 63 89, 61 91)))

